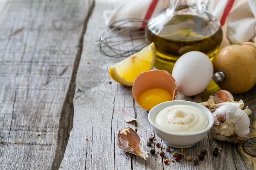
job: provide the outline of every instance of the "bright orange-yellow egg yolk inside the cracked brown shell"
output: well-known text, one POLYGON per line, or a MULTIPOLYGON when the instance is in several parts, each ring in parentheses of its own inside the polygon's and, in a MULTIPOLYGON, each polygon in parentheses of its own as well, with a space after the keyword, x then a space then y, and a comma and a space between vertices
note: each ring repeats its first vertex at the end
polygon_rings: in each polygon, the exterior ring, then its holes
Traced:
POLYGON ((163 88, 149 89, 139 97, 140 105, 147 110, 151 110, 154 106, 170 100, 172 100, 172 94, 163 88))

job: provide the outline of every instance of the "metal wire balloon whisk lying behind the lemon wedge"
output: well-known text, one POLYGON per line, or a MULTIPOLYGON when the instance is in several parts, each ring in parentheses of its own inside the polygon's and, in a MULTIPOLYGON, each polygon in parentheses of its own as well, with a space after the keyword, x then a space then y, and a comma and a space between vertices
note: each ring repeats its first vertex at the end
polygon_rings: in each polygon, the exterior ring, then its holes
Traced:
POLYGON ((128 57, 148 45, 145 41, 147 23, 148 20, 136 18, 117 20, 104 28, 95 44, 103 55, 128 57))

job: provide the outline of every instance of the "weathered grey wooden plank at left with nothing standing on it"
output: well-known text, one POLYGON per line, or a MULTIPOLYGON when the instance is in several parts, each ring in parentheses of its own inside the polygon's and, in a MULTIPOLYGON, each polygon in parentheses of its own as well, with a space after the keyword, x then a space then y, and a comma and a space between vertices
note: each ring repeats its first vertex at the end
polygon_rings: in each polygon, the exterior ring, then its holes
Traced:
POLYGON ((87 5, 0 1, 1 170, 58 169, 73 123, 87 5))

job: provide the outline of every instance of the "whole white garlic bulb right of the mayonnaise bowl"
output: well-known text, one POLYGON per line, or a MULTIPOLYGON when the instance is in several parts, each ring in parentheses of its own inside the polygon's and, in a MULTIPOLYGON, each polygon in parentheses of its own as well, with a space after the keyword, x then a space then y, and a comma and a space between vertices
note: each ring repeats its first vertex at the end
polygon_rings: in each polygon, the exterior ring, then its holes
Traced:
POLYGON ((213 117, 214 124, 209 131, 213 138, 237 144, 249 137, 250 119, 245 111, 234 105, 223 105, 213 117))

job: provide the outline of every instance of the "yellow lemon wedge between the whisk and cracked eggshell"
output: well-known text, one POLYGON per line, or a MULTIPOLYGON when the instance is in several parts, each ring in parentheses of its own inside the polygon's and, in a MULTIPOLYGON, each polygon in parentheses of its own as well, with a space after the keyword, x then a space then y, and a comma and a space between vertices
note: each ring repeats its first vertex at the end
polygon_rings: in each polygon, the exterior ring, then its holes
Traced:
POLYGON ((155 45, 152 42, 141 51, 112 65, 109 69, 109 75, 122 85, 132 86, 141 72, 154 68, 155 58, 155 45))

